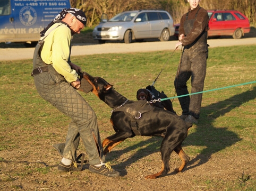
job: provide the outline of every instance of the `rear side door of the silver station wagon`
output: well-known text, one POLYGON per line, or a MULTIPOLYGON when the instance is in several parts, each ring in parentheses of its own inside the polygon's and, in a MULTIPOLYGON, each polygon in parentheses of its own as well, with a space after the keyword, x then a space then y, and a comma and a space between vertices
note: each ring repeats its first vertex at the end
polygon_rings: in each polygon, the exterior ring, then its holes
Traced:
POLYGON ((151 38, 159 38, 164 29, 164 21, 157 12, 148 12, 148 17, 151 25, 151 38))

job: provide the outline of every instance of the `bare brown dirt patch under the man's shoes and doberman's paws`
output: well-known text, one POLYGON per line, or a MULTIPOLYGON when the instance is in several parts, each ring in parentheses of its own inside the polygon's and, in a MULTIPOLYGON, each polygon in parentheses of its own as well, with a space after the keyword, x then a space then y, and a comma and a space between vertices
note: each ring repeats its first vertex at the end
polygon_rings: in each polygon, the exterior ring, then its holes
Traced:
MULTIPOLYGON (((109 131, 109 125, 100 126, 102 131, 109 131)), ((17 130, 13 131, 17 133, 17 130)), ((49 128, 47 131, 49 134, 54 132, 63 140, 65 138, 65 132, 61 130, 49 128)), ((238 176, 242 177, 245 171, 250 173, 250 179, 256 178, 256 171, 252 169, 255 165, 255 152, 220 151, 210 155, 190 156, 189 165, 179 174, 173 169, 181 165, 181 160, 177 154, 172 153, 171 170, 167 176, 153 180, 144 179, 144 176, 155 174, 161 169, 161 139, 149 137, 134 138, 140 143, 126 149, 116 148, 109 153, 107 160, 114 161, 112 167, 121 172, 120 178, 93 174, 88 170, 88 164, 83 166, 82 171, 59 172, 57 167, 46 168, 42 163, 56 165, 61 159, 51 147, 57 141, 52 135, 49 139, 26 141, 28 137, 42 134, 43 131, 30 135, 23 132, 19 137, 19 148, 1 151, 1 158, 9 161, 0 163, 1 190, 244 190, 246 185, 240 186, 238 176), (155 150, 149 150, 147 144, 155 144, 151 147, 155 150), (136 150, 136 147, 140 150, 136 150)), ((106 137, 106 134, 101 133, 101 137, 106 137)), ((85 153, 82 146, 78 151, 85 153)), ((184 151, 187 151, 186 147, 184 151)), ((244 177, 248 177, 247 174, 244 177)), ((250 183, 252 182, 249 180, 247 184, 250 183)))

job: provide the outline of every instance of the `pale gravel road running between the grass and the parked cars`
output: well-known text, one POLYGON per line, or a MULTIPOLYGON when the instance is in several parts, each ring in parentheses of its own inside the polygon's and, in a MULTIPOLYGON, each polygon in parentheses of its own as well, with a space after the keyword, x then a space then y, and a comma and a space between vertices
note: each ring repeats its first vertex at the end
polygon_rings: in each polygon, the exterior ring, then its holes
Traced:
MULTIPOLYGON (((174 50, 176 40, 167 42, 135 42, 125 44, 110 42, 105 44, 74 44, 71 56, 102 54, 102 53, 127 53, 127 52, 150 52, 160 50, 174 50)), ((242 39, 208 39, 210 48, 228 47, 256 44, 256 38, 242 39)), ((32 59, 35 48, 0 48, 0 61, 32 59)))

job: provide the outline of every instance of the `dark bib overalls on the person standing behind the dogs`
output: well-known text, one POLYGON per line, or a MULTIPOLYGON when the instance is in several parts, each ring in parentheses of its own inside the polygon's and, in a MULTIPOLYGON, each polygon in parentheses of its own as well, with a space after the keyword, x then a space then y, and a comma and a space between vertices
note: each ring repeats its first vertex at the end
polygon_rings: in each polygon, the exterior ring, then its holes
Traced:
MULTIPOLYGON (((188 20, 188 14, 189 13, 187 13, 186 20, 184 21, 185 35, 187 35, 193 29, 195 21, 195 19, 188 20)), ((197 17, 197 14, 195 17, 197 17)), ((190 77, 192 86, 191 93, 202 92, 204 78, 206 77, 207 58, 207 31, 204 31, 192 44, 184 46, 180 71, 174 81, 178 96, 189 94, 186 82, 190 79, 190 77)), ((183 115, 192 115, 196 119, 199 119, 202 94, 180 97, 178 100, 180 101, 183 115)))

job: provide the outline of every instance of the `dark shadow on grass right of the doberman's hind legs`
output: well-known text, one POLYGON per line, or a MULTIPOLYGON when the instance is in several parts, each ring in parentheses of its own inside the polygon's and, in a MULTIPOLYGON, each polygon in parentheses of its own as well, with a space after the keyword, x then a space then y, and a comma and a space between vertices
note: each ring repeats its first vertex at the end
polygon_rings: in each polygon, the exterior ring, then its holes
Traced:
POLYGON ((199 123, 197 131, 189 134, 184 141, 184 145, 201 146, 204 148, 197 157, 192 159, 186 169, 191 169, 206 163, 213 153, 221 151, 231 145, 235 144, 242 139, 227 128, 215 128, 215 120, 222 115, 232 111, 234 108, 241 106, 242 104, 255 99, 256 87, 251 90, 247 90, 238 95, 234 95, 231 98, 224 101, 208 105, 201 108, 202 117, 199 123))

